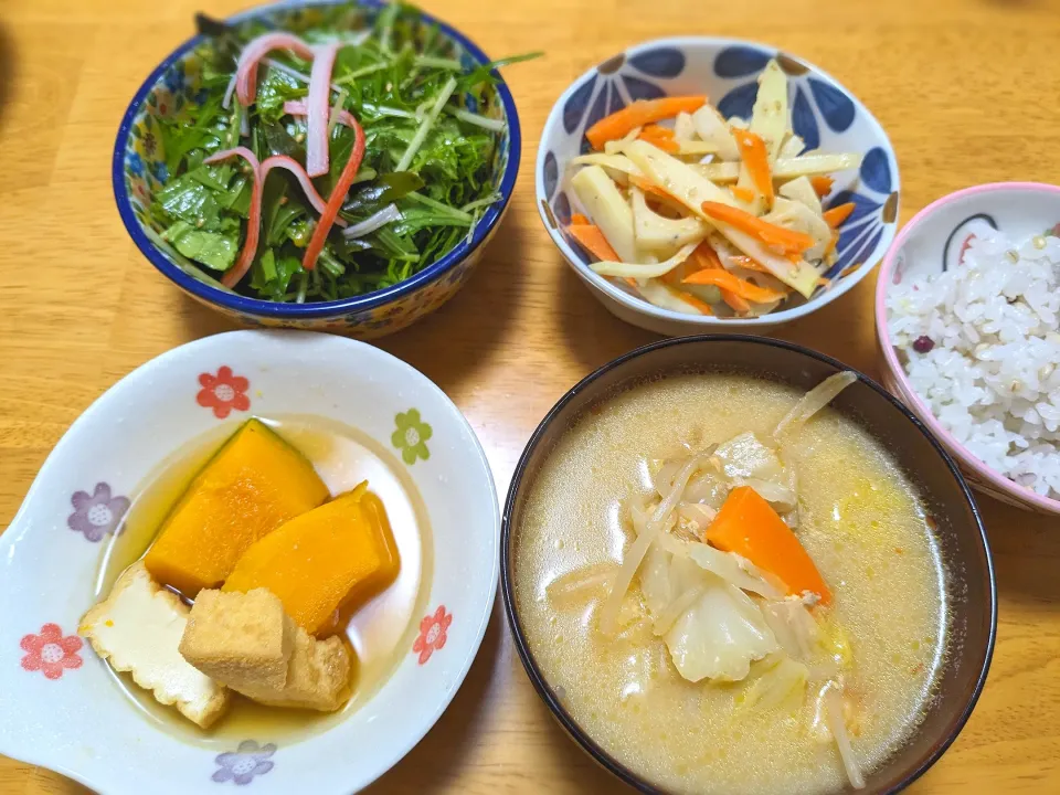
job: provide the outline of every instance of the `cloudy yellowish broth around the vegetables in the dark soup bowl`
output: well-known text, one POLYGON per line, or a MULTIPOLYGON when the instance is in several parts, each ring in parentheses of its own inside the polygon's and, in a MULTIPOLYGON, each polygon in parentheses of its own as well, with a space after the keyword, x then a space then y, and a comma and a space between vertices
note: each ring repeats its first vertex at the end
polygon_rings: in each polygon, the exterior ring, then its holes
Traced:
MULTIPOLYGON (((667 791, 827 793, 844 789, 847 777, 835 743, 812 735, 807 706, 741 708, 745 682, 689 682, 660 638, 603 637, 592 621, 598 600, 560 610, 545 586, 621 560, 632 530, 615 520, 617 506, 647 492, 649 459, 748 431, 770 438, 801 396, 742 375, 645 382, 586 412, 530 485, 512 565, 530 651, 574 721, 667 791), (563 644, 553 643, 559 635, 563 644)), ((798 473, 799 541, 831 587, 833 615, 852 647, 846 687, 860 704, 852 745, 869 773, 915 729, 944 662, 940 553, 915 488, 856 422, 825 410, 787 463, 798 473)))

